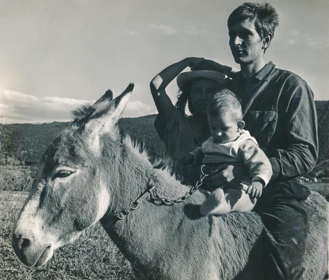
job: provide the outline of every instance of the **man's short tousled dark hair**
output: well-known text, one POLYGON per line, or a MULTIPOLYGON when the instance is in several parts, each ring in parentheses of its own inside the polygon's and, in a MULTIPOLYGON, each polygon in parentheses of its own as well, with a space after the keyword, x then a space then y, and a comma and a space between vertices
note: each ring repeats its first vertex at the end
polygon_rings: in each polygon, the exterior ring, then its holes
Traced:
POLYGON ((249 19, 255 21, 255 29, 260 38, 264 39, 268 33, 274 36, 275 27, 279 25, 279 15, 269 3, 243 3, 228 17, 227 26, 249 19))

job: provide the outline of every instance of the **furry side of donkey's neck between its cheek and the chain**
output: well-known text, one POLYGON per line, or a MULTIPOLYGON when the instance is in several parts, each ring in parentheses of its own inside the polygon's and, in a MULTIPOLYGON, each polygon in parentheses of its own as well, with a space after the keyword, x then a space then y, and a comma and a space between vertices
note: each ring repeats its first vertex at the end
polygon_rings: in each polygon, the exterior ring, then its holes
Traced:
MULTIPOLYGON (((131 202, 150 188, 151 179, 156 190, 169 198, 177 198, 190 188, 176 181, 168 172, 153 168, 146 153, 140 152, 139 146, 135 147, 129 138, 123 140, 120 156, 115 161, 116 171, 107 171, 111 172, 108 174, 108 178, 111 178, 108 185, 111 197, 109 214, 129 209, 131 202)), ((150 197, 147 197, 141 205, 149 200, 150 197)))

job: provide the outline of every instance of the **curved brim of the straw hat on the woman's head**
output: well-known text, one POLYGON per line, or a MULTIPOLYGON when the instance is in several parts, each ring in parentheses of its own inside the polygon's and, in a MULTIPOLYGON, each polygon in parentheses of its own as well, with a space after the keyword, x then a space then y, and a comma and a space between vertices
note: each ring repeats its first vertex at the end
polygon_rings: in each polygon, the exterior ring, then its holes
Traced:
POLYGON ((177 76, 177 86, 180 90, 183 90, 186 83, 195 78, 211 79, 218 84, 225 84, 225 75, 218 71, 213 70, 192 70, 188 72, 180 73, 177 76))

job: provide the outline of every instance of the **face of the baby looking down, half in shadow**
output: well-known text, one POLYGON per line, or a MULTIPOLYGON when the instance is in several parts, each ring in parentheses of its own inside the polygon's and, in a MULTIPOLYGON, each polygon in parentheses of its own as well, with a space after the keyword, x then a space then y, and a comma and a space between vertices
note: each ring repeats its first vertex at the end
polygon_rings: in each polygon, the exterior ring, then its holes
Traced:
POLYGON ((208 122, 211 136, 217 143, 228 143, 237 139, 240 135, 238 123, 231 114, 223 114, 219 116, 208 115, 208 122))

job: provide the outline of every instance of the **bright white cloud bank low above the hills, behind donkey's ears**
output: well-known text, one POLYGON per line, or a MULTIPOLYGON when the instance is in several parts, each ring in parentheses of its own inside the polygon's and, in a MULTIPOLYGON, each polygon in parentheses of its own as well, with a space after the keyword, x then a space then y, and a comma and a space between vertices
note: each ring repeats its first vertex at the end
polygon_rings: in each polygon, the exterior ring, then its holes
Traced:
MULTIPOLYGON (((0 115, 4 123, 71 121, 71 111, 95 100, 67 97, 37 97, 13 90, 0 91, 0 115)), ((128 102, 123 117, 152 114, 154 109, 141 101, 128 102)))

